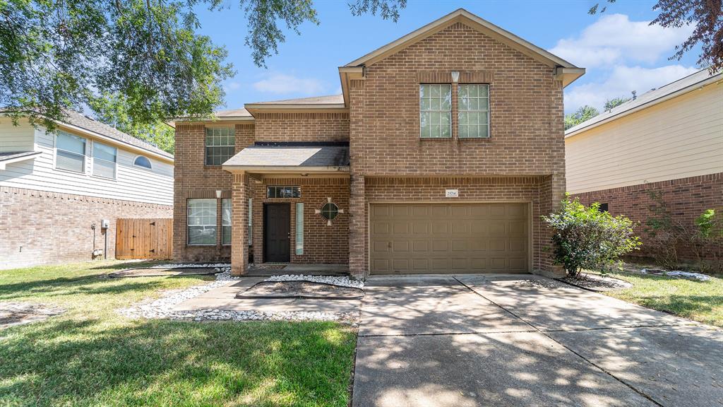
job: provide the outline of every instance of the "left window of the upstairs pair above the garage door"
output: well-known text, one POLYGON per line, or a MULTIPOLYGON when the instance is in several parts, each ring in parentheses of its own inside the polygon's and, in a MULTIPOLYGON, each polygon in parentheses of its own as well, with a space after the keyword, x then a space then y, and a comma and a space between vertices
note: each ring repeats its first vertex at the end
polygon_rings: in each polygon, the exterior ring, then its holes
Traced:
POLYGON ((452 85, 419 85, 419 132, 422 138, 452 137, 452 85))

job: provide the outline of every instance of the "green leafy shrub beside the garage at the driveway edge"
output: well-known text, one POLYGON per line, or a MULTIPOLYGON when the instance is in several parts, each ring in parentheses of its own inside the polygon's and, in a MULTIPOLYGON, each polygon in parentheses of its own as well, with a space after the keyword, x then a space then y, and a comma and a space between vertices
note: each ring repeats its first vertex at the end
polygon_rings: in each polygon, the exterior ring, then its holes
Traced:
POLYGON ((640 239, 633 235, 633 222, 599 210, 600 204, 584 206, 576 198, 565 198, 557 213, 542 217, 555 230, 552 235, 555 264, 571 277, 582 269, 607 272, 620 256, 638 250, 640 239))

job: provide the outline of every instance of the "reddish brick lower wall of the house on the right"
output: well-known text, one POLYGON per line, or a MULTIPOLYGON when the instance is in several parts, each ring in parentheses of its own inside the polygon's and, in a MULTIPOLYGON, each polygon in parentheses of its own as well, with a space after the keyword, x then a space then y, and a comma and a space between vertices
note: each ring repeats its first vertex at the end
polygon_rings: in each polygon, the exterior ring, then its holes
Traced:
MULTIPOLYGON (((649 208, 655 205, 650 196, 652 191, 662 192, 670 214, 684 225, 694 225, 693 220, 706 209, 723 211, 723 173, 596 190, 578 193, 573 197, 580 198, 585 205, 593 202, 607 204, 610 214, 623 214, 635 222, 640 222, 641 226, 636 228, 636 232, 641 236, 643 246, 633 255, 651 256, 652 253, 646 250, 646 233, 643 227, 651 217, 649 208)), ((678 253, 683 259, 695 259, 690 248, 685 246, 681 246, 678 253)))

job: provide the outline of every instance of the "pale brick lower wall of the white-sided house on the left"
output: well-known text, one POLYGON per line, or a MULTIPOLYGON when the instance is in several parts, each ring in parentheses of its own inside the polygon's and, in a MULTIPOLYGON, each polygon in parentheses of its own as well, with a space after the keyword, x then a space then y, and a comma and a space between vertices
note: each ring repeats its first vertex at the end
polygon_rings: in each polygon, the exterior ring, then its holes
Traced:
POLYGON ((168 205, 0 187, 0 269, 87 261, 103 249, 108 219, 108 258, 115 257, 116 219, 170 218, 168 205), (21 249, 22 247, 22 249, 21 249))

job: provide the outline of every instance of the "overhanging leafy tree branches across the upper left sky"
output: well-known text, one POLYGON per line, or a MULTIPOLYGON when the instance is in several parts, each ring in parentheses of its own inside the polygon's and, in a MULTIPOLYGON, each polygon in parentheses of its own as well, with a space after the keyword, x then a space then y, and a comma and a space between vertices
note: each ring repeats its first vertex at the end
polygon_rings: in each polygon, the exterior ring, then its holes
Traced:
MULTIPOLYGON (((221 83, 234 70, 223 46, 196 33, 200 4, 230 7, 222 0, 0 0, 4 114, 52 129, 67 109, 116 95, 140 124, 209 117, 223 104, 221 83)), ((379 12, 392 20, 405 6, 406 0, 349 4, 355 15, 379 12)), ((285 41, 280 25, 299 33, 302 23, 319 23, 312 0, 239 0, 239 7, 259 66, 285 41)))

